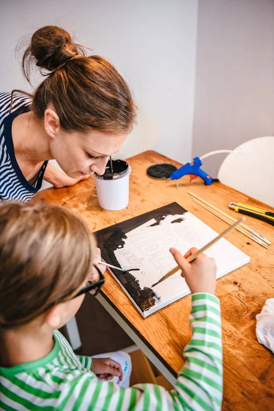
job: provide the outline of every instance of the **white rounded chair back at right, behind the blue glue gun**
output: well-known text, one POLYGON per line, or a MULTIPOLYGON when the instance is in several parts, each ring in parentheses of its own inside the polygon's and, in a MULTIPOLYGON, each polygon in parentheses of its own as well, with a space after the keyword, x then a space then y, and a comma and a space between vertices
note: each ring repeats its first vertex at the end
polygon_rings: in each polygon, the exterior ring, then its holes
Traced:
POLYGON ((254 138, 235 151, 221 164, 219 180, 274 207, 274 137, 254 138))

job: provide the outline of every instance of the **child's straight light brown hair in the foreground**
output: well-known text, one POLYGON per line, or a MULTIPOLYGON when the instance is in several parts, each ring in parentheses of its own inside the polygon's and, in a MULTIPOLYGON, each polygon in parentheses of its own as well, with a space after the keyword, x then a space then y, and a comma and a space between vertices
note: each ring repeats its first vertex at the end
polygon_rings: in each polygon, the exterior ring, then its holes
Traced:
POLYGON ((94 250, 87 225, 66 208, 0 206, 0 329, 73 297, 92 269, 94 250))

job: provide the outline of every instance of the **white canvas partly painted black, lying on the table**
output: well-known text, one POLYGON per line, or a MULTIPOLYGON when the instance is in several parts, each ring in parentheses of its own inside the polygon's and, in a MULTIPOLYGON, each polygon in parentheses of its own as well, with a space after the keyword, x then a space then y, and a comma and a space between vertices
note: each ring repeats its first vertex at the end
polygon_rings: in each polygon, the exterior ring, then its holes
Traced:
MULTIPOLYGON (((177 203, 96 233, 103 260, 127 270, 110 272, 144 317, 190 292, 180 271, 151 287, 176 265, 169 249, 176 247, 184 255, 191 247, 200 249, 217 235, 177 203)), ((216 260, 218 278, 249 262, 249 256, 224 238, 206 254, 216 260)))

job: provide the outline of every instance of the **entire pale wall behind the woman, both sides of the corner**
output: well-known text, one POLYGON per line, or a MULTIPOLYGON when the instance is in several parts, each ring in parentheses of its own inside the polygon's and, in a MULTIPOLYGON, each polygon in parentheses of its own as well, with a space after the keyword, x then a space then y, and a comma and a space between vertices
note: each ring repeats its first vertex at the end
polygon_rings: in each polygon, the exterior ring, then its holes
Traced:
MULTIPOLYGON (((111 60, 134 90, 138 126, 121 158, 152 145, 188 162, 273 135, 274 1, 201 0, 199 16, 197 6, 198 0, 2 1, 0 90, 30 90, 15 47, 55 24, 111 60)), ((215 177, 222 160, 206 159, 206 171, 215 177)))

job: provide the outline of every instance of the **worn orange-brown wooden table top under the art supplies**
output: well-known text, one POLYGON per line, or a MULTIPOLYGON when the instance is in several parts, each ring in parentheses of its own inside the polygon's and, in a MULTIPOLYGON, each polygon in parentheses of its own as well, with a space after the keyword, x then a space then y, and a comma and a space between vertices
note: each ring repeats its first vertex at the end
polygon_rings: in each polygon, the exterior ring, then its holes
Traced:
MULTIPOLYGON (((119 223, 144 212, 177 201, 216 232, 227 224, 192 201, 188 190, 216 207, 238 216, 227 208, 229 201, 262 206, 246 195, 221 183, 204 186, 189 177, 179 180, 179 188, 172 182, 151 179, 146 169, 158 162, 177 162, 154 151, 147 151, 129 159, 132 166, 130 200, 125 210, 110 212, 98 206, 92 178, 71 188, 49 189, 38 193, 34 201, 45 201, 71 208, 82 215, 92 232, 119 223)), ((274 243, 273 226, 247 217, 247 225, 264 234, 274 243)), ((274 409, 274 357, 256 340, 256 314, 266 299, 274 297, 274 245, 264 249, 240 232, 230 233, 227 240, 247 253, 251 262, 217 282, 216 295, 221 300, 223 321, 224 399, 223 410, 274 409)), ((190 295, 152 314, 147 319, 135 310, 112 276, 105 273, 106 282, 99 301, 114 316, 160 371, 171 381, 181 369, 184 347, 190 339, 188 316, 190 295)))

